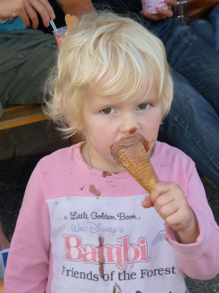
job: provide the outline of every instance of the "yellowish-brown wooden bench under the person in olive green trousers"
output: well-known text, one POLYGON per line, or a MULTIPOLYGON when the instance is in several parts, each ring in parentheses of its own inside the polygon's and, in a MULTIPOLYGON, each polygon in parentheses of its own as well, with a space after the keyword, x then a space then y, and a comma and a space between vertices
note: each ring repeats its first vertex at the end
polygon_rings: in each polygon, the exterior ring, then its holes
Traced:
POLYGON ((11 105, 5 106, 3 109, 4 113, 0 117, 0 130, 48 119, 38 104, 11 105))

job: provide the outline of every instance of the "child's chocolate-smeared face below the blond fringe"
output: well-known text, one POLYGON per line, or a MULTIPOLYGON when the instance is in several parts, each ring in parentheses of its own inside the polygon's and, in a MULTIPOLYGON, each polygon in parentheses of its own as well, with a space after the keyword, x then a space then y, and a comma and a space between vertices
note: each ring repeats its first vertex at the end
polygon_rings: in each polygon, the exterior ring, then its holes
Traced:
MULTIPOLYGON (((148 155, 152 155, 161 122, 161 103, 157 101, 154 85, 145 98, 146 93, 147 90, 142 98, 132 102, 118 103, 115 98, 97 95, 86 98, 79 130, 84 130, 93 167, 109 172, 124 171, 114 161, 110 148, 130 135, 143 136, 149 142, 148 155)), ((87 145, 81 152, 88 162, 87 145)))

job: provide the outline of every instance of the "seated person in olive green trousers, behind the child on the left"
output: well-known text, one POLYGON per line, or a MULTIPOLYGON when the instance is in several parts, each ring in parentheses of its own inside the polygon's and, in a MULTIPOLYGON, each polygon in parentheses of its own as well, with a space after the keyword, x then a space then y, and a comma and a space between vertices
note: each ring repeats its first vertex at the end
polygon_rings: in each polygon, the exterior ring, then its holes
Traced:
MULTIPOLYGON (((59 3, 64 13, 94 10, 90 0, 59 3)), ((55 64, 55 38, 37 29, 38 16, 41 28, 55 18, 48 0, 0 0, 0 117, 2 105, 40 103, 43 81, 55 64), (30 24, 32 28, 28 28, 30 24)), ((50 33, 52 30, 50 26, 50 33)))

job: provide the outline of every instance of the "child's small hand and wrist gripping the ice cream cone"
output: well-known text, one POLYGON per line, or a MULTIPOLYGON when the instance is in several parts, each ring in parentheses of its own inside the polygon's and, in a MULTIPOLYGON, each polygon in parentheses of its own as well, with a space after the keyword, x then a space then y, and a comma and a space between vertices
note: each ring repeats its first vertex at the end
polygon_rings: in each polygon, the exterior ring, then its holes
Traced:
POLYGON ((178 232, 180 243, 196 242, 199 228, 183 190, 175 183, 158 183, 142 206, 154 205, 167 226, 178 232))

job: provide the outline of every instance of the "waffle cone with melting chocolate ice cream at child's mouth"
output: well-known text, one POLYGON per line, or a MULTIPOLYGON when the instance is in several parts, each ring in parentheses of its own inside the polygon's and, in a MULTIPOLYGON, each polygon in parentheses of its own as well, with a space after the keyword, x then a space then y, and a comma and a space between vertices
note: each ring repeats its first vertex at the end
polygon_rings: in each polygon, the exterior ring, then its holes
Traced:
POLYGON ((141 137, 130 137, 111 148, 114 159, 150 194, 159 183, 141 137))

